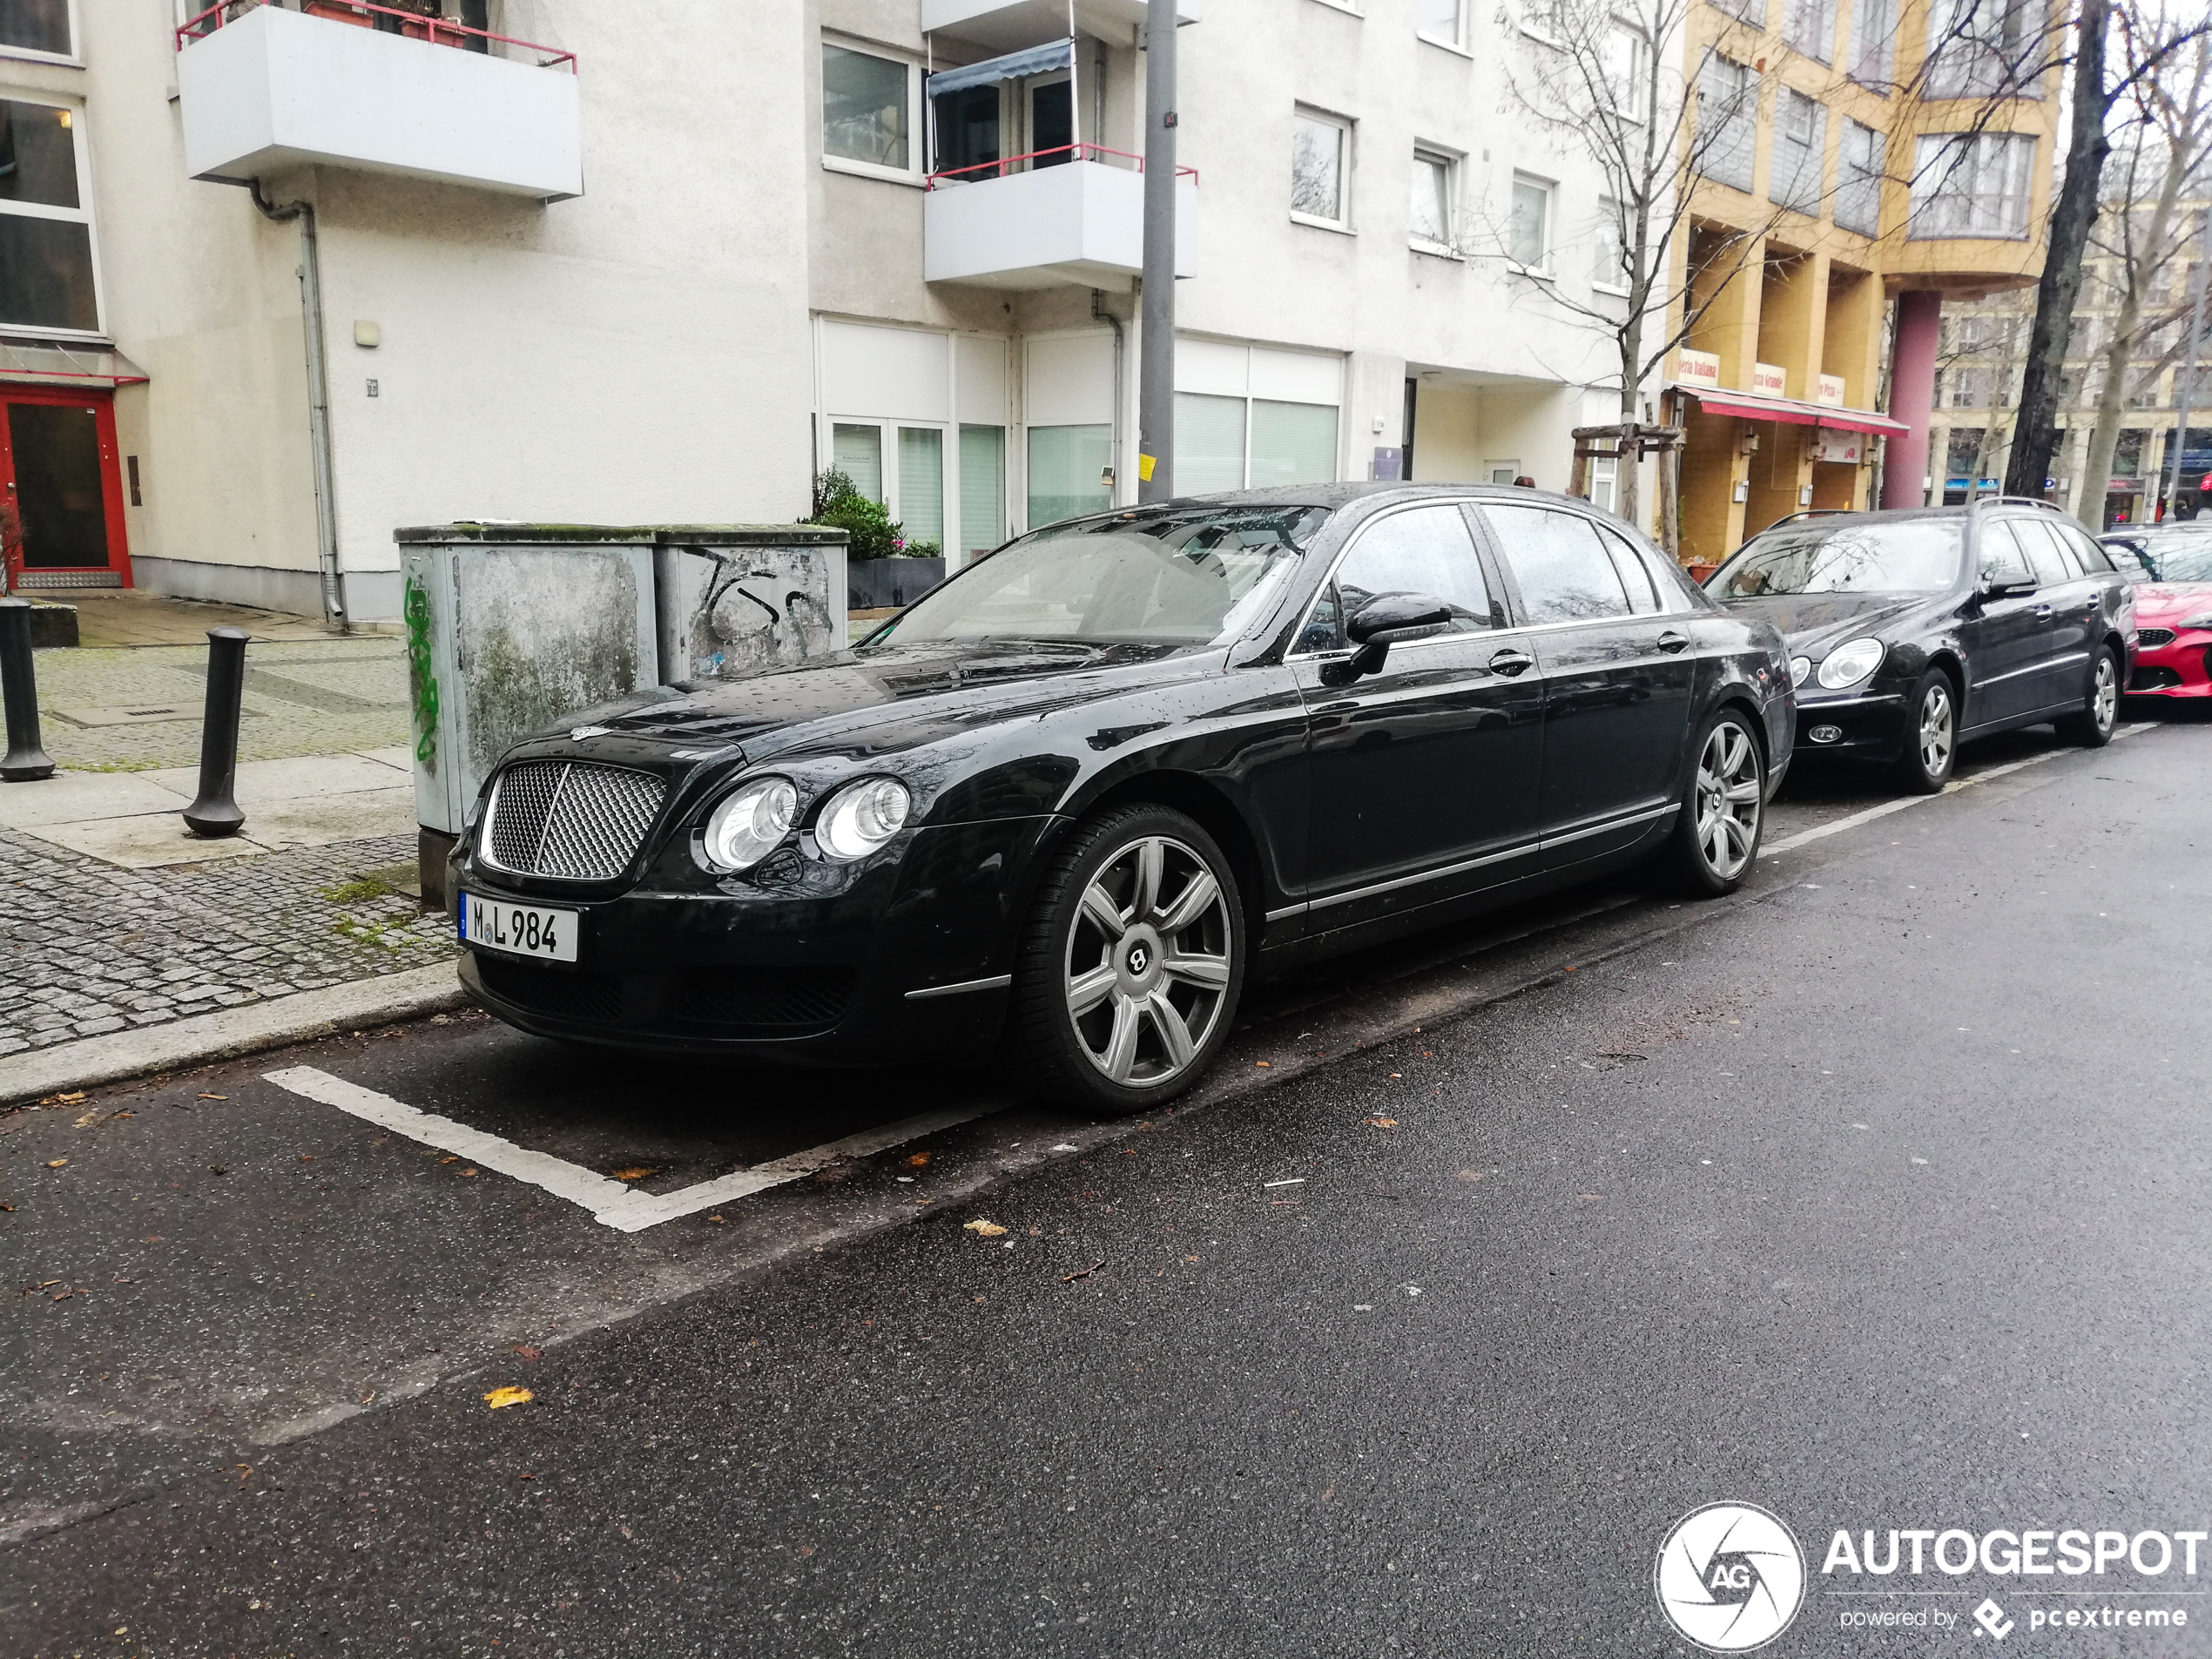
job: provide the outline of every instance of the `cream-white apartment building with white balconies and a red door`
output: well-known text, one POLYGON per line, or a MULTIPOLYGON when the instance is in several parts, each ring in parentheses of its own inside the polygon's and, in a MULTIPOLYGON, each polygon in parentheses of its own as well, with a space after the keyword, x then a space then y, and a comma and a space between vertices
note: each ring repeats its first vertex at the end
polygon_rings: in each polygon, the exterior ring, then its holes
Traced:
MULTIPOLYGON (((27 586, 398 613, 392 531, 1135 498, 1139 0, 9 0, 27 586)), ((1520 478, 1619 407, 1599 181, 1475 0, 1190 0, 1177 482, 1520 478)), ((1599 500, 1610 478, 1595 484, 1599 500)))

